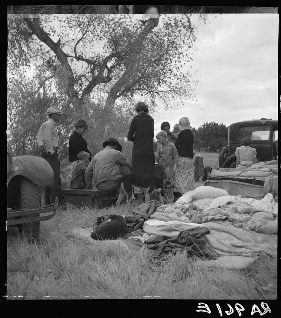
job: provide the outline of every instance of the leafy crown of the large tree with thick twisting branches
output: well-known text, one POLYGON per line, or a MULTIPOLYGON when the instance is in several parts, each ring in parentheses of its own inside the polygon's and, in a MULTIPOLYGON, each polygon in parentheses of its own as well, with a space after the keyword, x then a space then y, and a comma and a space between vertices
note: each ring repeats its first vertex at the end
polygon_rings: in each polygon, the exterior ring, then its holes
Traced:
POLYGON ((94 93, 110 112, 135 94, 150 102, 190 98, 196 82, 182 66, 195 41, 188 15, 8 15, 8 65, 44 66, 79 112, 94 93))

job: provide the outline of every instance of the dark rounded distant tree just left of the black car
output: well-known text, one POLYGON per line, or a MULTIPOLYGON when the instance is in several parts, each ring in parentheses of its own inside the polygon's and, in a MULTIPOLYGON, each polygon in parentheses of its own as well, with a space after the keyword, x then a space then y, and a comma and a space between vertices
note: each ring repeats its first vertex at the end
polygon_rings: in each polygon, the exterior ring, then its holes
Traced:
POLYGON ((227 145, 228 141, 228 127, 223 123, 216 123, 214 121, 205 122, 195 132, 194 148, 204 146, 205 149, 216 151, 227 145))

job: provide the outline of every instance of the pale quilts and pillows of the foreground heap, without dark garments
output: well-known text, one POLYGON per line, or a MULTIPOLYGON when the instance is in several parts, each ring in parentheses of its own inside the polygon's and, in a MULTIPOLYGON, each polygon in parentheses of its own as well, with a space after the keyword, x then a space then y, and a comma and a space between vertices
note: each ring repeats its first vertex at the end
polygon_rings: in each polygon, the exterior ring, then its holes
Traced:
MULTIPOLYGON (((216 259, 224 257, 224 261, 216 262, 212 256, 212 261, 206 260, 209 266, 230 268, 232 264, 237 269, 249 265, 262 253, 276 255, 278 207, 272 194, 262 200, 226 194, 222 189, 198 187, 174 204, 157 207, 142 230, 152 238, 172 239, 182 232, 207 228, 209 233, 204 236, 216 259)), ((150 203, 142 205, 146 204, 150 203)))

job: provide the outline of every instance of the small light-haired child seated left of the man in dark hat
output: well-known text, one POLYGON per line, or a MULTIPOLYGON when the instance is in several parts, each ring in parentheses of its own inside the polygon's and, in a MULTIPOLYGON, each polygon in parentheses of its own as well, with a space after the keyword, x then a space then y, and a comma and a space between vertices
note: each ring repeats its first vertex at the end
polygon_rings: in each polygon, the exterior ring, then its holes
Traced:
POLYGON ((77 155, 78 162, 73 167, 69 187, 73 189, 86 189, 85 170, 88 166, 90 154, 80 151, 77 155))

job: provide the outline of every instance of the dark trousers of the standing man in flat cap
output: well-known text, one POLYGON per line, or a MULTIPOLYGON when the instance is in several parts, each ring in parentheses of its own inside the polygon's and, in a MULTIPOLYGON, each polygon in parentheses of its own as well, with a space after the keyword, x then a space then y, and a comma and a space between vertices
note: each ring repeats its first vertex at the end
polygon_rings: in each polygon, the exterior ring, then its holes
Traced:
POLYGON ((45 205, 55 203, 56 197, 61 201, 61 180, 60 180, 60 162, 58 160, 58 151, 54 149, 55 153, 50 156, 41 149, 41 157, 47 160, 54 171, 54 182, 51 186, 45 188, 45 205))

